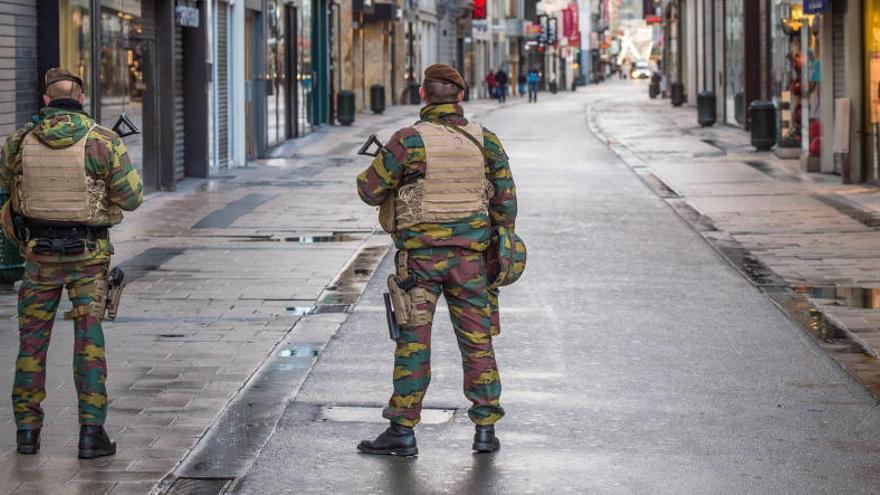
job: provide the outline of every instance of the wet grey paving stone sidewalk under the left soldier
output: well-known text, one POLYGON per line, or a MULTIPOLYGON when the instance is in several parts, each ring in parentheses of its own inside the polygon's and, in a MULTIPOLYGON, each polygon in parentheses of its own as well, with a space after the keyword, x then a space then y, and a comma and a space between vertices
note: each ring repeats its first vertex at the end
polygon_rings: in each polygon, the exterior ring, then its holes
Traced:
MULTIPOLYGON (((477 115, 494 107, 468 105, 477 115)), ((390 237, 375 232, 374 210, 357 198, 354 177, 369 161, 354 152, 371 132, 387 139, 417 113, 406 106, 358 115, 351 127, 285 144, 275 158, 149 195, 113 231, 114 264, 129 275, 120 316, 105 325, 107 426, 119 453, 76 459, 73 332, 60 318, 65 298, 49 352, 42 451, 15 454, 8 405, 0 493, 147 493, 298 322, 341 323, 340 314, 302 313, 322 303, 339 303, 330 313, 344 311, 361 288, 340 295, 328 286, 364 246, 372 246, 373 265, 381 260, 376 245, 383 253, 390 246, 390 237)), ((15 294, 0 294, 0 390, 12 387, 15 313, 15 294)))

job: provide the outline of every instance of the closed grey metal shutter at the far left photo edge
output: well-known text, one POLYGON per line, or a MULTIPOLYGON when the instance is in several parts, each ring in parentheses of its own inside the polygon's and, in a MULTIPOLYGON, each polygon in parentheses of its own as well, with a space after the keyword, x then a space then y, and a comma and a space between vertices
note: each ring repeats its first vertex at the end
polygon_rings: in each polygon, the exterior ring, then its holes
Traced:
POLYGON ((37 0, 0 0, 0 138, 36 112, 37 0))

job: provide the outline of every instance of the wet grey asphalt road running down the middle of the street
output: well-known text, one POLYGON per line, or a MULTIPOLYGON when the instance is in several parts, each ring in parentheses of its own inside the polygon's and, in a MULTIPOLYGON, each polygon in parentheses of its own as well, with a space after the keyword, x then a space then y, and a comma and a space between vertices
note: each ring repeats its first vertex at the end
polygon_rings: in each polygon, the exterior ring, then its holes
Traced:
POLYGON ((356 453, 391 390, 386 260, 238 493, 880 491, 875 401, 590 134, 590 101, 642 97, 607 86, 484 122, 529 247, 501 299, 502 450, 470 451, 440 313, 426 406, 452 418, 417 429, 418 458, 356 453))

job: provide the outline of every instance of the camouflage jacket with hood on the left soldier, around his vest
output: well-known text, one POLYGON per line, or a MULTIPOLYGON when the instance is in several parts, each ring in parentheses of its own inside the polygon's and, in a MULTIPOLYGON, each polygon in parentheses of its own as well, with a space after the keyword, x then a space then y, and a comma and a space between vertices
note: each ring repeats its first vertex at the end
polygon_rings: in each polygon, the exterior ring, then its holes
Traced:
MULTIPOLYGON (((33 133, 50 148, 66 148, 85 136, 94 123, 84 112, 43 108, 6 140, 0 152, 0 186, 11 191, 15 177, 21 174, 21 143, 28 133, 33 133)), ((144 187, 141 178, 128 158, 125 145, 115 132, 102 126, 92 129, 86 141, 85 167, 86 173, 107 184, 107 197, 121 209, 132 211, 143 202, 144 187)), ((31 252, 31 247, 27 246, 25 257, 29 261, 44 263, 102 260, 113 254, 113 245, 109 239, 89 242, 89 249, 81 255, 36 255, 31 252)))

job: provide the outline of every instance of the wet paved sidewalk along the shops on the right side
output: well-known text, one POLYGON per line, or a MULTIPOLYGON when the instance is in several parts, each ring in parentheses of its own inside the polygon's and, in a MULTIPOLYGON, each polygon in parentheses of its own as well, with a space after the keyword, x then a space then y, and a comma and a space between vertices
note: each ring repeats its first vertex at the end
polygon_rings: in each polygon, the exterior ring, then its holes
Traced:
POLYGON ((718 231, 704 235, 741 245, 880 357, 880 189, 802 172, 754 151, 742 129, 701 128, 694 108, 651 100, 647 86, 589 90, 591 128, 718 231))

